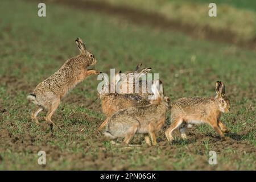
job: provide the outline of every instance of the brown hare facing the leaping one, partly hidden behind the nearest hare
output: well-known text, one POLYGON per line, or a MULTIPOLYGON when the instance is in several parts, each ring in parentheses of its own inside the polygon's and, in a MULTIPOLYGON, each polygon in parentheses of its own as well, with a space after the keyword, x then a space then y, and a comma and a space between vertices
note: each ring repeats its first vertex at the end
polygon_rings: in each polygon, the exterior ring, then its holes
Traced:
MULTIPOLYGON (((104 77, 104 75, 102 75, 104 77)), ((105 121, 101 124, 98 130, 101 130, 108 122, 109 117, 120 109, 125 109, 131 106, 144 106, 150 104, 150 101, 135 94, 118 94, 109 93, 110 85, 108 79, 104 77, 105 86, 100 92, 102 102, 102 111, 106 115, 105 121), (108 90, 106 90, 108 88, 108 90)))

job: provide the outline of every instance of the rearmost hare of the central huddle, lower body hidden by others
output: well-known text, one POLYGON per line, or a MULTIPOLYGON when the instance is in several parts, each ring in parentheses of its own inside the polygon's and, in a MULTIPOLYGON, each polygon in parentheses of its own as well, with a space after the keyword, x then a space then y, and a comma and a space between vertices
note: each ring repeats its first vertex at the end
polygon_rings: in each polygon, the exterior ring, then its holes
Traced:
MULTIPOLYGON (((141 80, 142 76, 145 76, 151 71, 151 68, 141 69, 142 64, 138 64, 135 71, 127 71, 122 73, 119 71, 115 75, 115 82, 117 84, 117 92, 120 94, 137 94, 145 99, 149 99, 148 96, 151 95, 151 90, 148 89, 146 80, 141 80)), ((145 77, 146 78, 146 77, 145 77)))

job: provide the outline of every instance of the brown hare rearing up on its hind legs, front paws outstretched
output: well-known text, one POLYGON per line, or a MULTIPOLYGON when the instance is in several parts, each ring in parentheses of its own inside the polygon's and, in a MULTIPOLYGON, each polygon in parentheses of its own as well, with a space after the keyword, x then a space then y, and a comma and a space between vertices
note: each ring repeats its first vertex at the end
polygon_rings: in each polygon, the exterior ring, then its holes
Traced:
POLYGON ((27 99, 37 106, 35 112, 31 113, 31 118, 36 123, 39 123, 36 118, 38 113, 46 109, 48 113, 44 119, 53 124, 51 117, 61 98, 87 76, 100 74, 94 69, 86 69, 90 65, 95 65, 97 60, 86 50, 80 38, 76 39, 76 44, 81 51, 80 55, 67 60, 57 72, 40 82, 34 92, 27 96, 27 99))

